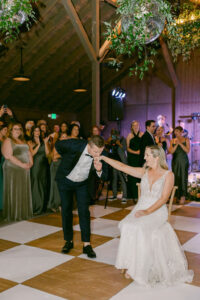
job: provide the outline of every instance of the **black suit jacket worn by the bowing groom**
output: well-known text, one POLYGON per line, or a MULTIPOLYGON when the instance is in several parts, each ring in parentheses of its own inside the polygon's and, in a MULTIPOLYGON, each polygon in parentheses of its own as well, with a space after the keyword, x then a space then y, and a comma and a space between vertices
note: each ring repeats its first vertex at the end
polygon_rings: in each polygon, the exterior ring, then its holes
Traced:
MULTIPOLYGON (((57 141, 55 144, 56 151, 61 155, 62 160, 58 167, 56 174, 56 181, 65 178, 73 168, 76 166, 82 152, 87 145, 87 141, 82 139, 68 139, 63 141, 57 141)), ((107 152, 103 150, 103 155, 107 156, 107 152)), ((92 176, 97 176, 94 164, 92 163, 88 176, 88 185, 92 176)), ((108 165, 102 162, 102 174, 101 179, 107 180, 108 178, 108 165)))

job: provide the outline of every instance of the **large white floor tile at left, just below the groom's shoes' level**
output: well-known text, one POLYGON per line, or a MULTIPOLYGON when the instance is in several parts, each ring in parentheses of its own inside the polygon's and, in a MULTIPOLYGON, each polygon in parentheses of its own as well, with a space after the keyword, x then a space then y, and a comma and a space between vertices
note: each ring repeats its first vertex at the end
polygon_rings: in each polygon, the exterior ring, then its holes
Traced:
POLYGON ((25 245, 0 252, 0 278, 22 283, 73 258, 25 245))

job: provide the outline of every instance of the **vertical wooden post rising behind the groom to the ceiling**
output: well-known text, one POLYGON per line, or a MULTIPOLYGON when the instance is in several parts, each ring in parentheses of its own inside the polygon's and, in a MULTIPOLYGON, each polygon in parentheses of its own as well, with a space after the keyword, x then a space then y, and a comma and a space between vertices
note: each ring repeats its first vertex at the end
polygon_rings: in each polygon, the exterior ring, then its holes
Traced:
MULTIPOLYGON (((99 57, 100 44, 100 6, 99 0, 92 1, 92 46, 96 58, 99 57)), ((92 126, 100 124, 100 62, 92 62, 92 126)))

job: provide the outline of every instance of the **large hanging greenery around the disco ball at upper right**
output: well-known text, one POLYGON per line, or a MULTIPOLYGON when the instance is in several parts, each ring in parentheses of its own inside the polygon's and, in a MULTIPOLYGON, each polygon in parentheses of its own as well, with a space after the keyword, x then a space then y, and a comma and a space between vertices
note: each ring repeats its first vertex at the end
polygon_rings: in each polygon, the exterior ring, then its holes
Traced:
POLYGON ((174 60, 183 55, 186 60, 200 45, 200 10, 194 4, 183 5, 177 19, 176 5, 166 0, 118 0, 115 24, 106 24, 106 38, 117 55, 133 60, 130 75, 143 79, 154 66, 159 48, 158 37, 168 43, 174 60), (114 29, 113 29, 114 28, 114 29))

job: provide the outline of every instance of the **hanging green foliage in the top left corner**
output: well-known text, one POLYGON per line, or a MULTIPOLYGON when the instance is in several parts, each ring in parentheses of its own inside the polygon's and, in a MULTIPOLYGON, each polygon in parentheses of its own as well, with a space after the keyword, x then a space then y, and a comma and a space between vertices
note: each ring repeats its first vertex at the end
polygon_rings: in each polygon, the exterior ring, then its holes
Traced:
POLYGON ((16 39, 20 26, 29 19, 35 19, 35 13, 31 3, 37 0, 1 0, 0 2, 0 33, 5 42, 16 39))

